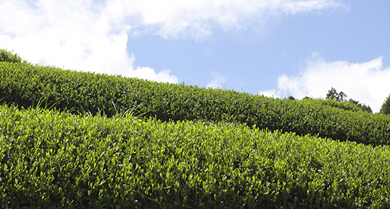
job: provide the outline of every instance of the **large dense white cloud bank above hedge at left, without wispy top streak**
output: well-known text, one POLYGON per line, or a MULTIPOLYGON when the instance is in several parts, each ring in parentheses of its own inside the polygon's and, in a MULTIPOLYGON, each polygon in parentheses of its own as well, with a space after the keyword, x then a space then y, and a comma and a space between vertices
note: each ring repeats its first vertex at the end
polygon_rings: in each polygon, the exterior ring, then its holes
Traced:
POLYGON ((1 1, 0 13, 0 47, 32 63, 178 83, 170 70, 134 66, 132 26, 109 2, 1 1))

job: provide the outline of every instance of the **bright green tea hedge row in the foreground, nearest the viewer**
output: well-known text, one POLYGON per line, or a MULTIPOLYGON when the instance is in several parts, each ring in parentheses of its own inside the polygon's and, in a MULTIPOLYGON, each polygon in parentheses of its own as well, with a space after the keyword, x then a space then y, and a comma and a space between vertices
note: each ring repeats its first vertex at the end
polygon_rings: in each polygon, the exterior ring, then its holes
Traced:
POLYGON ((0 106, 1 208, 390 208, 390 150, 0 106))

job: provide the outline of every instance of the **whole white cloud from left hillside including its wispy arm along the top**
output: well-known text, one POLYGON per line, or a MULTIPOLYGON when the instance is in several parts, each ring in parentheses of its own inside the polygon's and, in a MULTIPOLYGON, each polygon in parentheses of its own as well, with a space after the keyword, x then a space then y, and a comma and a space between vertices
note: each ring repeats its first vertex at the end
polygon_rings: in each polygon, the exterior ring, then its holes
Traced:
POLYGON ((134 66, 129 36, 205 40, 215 26, 245 29, 265 15, 341 6, 341 0, 2 0, 0 47, 33 63, 175 83, 169 70, 134 66))

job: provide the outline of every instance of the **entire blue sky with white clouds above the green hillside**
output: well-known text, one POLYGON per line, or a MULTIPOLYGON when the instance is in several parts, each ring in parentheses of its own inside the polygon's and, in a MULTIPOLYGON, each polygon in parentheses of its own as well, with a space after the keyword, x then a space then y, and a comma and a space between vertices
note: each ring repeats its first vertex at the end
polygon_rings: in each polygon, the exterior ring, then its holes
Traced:
POLYGON ((31 63, 380 111, 389 0, 0 0, 0 48, 31 63))

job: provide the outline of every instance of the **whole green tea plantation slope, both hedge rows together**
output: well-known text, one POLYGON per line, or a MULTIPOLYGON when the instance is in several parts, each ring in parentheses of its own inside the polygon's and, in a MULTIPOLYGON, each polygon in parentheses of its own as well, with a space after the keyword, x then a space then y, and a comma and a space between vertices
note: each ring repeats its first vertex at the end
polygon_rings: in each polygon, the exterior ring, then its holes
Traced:
POLYGON ((390 116, 0 62, 1 208, 390 208, 390 116))

